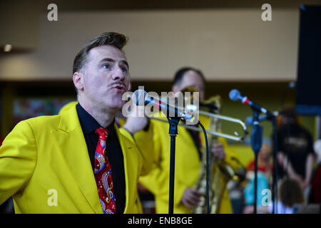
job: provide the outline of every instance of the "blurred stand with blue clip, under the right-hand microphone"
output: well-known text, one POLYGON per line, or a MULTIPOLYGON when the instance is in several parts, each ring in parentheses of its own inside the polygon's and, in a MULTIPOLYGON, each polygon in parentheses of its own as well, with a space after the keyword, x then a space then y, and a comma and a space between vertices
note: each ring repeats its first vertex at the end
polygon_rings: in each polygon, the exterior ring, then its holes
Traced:
POLYGON ((257 212, 257 198, 258 198, 258 153, 261 150, 262 147, 262 138, 263 138, 263 127, 260 126, 259 120, 258 120, 258 116, 259 116, 259 112, 257 110, 255 110, 254 108, 253 110, 253 130, 251 133, 251 147, 252 150, 254 151, 254 156, 255 156, 255 160, 254 160, 254 214, 256 214, 257 212))

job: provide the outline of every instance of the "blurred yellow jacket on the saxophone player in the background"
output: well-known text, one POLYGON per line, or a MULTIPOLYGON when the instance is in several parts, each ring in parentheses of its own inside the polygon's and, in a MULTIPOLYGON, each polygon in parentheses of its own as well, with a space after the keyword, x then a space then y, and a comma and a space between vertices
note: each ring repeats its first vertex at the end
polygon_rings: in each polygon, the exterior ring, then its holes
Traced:
MULTIPOLYGON (((201 117, 200 117, 201 118, 201 117)), ((165 119, 166 120, 166 119, 165 119)), ((200 120, 206 127, 208 120, 200 120)), ((155 195, 156 213, 168 213, 169 202, 169 172, 170 172, 170 136, 169 125, 158 120, 151 120, 148 132, 140 131, 135 134, 136 145, 140 150, 154 151, 153 170, 140 182, 155 195)), ((203 135, 203 133, 200 133, 203 135)), ((205 138, 201 138, 204 142, 205 138)), ((225 147, 225 162, 232 167, 237 167, 231 157, 237 157, 236 153, 220 138, 225 147)), ((178 136, 175 147, 175 183, 174 183, 174 213, 190 213, 190 209, 181 202, 186 187, 193 188, 198 180, 200 172, 200 159, 193 138, 186 128, 178 126, 178 136)), ((228 190, 223 192, 219 213, 232 213, 228 190)))

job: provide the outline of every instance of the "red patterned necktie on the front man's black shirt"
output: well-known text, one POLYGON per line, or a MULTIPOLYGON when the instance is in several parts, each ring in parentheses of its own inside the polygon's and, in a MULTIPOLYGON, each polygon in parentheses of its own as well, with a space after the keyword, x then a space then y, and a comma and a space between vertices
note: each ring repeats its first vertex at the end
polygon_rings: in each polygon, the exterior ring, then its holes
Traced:
POLYGON ((97 128, 99 135, 95 152, 95 179, 98 187, 98 195, 101 200, 103 214, 116 213, 116 197, 113 190, 113 177, 111 176, 111 164, 106 155, 106 138, 108 130, 97 128))

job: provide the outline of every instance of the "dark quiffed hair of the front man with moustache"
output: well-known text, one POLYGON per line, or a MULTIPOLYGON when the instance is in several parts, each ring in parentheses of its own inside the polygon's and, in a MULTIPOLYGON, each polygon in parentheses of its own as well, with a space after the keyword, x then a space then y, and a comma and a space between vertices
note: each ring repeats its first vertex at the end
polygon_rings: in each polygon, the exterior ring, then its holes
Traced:
POLYGON ((76 54, 76 57, 73 60, 73 73, 80 71, 81 68, 83 68, 87 61, 88 52, 91 51, 92 48, 103 45, 111 45, 122 51, 123 46, 126 45, 127 41, 128 38, 121 33, 101 33, 101 35, 86 43, 86 45, 81 48, 81 51, 76 54))

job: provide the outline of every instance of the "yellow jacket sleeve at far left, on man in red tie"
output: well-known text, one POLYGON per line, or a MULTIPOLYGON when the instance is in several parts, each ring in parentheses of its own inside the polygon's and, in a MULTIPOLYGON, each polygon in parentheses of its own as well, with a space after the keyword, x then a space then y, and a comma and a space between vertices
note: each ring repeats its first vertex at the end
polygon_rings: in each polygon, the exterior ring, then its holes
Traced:
POLYGON ((21 121, 0 147, 0 204, 22 190, 36 167, 36 140, 31 126, 21 121))

